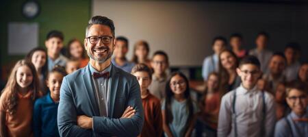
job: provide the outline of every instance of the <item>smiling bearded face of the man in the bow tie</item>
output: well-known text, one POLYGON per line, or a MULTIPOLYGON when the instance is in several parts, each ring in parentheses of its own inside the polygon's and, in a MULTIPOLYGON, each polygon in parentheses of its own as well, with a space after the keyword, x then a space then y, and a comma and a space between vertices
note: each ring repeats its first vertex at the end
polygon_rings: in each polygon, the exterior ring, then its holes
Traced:
POLYGON ((112 40, 109 43, 103 43, 101 39, 97 44, 92 44, 89 38, 84 39, 84 47, 90 57, 91 60, 94 60, 98 63, 103 63, 106 60, 109 60, 114 51, 114 45, 116 44, 116 40, 112 36, 112 31, 110 27, 106 25, 92 25, 90 29, 88 29, 88 36, 110 36, 112 40))

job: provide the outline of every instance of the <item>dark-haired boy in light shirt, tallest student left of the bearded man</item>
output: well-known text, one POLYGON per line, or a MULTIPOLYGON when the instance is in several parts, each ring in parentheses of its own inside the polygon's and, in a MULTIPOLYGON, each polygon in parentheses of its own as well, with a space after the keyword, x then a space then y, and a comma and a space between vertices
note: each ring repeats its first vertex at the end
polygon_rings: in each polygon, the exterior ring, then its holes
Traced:
POLYGON ((65 67, 67 58, 60 53, 63 47, 64 36, 62 32, 52 30, 47 34, 45 46, 48 54, 48 70, 51 71, 55 65, 65 67))

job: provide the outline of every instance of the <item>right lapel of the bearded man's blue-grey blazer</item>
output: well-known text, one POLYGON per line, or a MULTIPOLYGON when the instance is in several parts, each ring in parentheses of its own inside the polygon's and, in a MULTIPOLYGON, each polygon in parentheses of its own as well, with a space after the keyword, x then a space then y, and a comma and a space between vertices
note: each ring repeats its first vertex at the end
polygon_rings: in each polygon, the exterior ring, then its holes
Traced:
POLYGON ((118 90, 118 69, 116 66, 112 64, 112 71, 110 75, 110 83, 111 83, 111 89, 110 89, 110 104, 109 104, 109 117, 112 118, 114 115, 114 101, 116 100, 116 92, 118 90))

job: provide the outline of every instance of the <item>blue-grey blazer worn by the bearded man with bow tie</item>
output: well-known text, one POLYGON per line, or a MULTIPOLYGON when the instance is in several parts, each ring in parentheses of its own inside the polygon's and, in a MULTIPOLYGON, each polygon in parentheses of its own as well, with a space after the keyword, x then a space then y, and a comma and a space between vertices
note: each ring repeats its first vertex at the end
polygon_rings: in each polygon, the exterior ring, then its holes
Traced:
POLYGON ((110 116, 100 116, 89 65, 63 79, 57 111, 60 136, 138 136, 144 123, 144 112, 136 77, 112 64, 110 116), (136 110, 135 115, 131 119, 120 119, 128 106, 136 110), (92 129, 77 125, 79 115, 93 118, 92 129))

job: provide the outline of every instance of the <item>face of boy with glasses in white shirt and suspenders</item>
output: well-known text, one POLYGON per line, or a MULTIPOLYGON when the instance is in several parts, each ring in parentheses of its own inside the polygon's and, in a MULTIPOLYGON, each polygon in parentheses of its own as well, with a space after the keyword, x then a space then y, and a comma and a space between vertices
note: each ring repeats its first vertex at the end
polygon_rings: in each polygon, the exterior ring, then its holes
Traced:
POLYGON ((253 88, 261 75, 261 72, 254 64, 243 64, 236 69, 242 79, 242 84, 246 88, 253 88))

